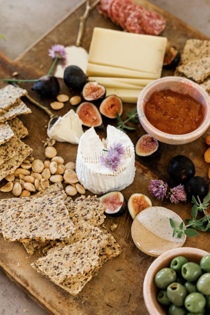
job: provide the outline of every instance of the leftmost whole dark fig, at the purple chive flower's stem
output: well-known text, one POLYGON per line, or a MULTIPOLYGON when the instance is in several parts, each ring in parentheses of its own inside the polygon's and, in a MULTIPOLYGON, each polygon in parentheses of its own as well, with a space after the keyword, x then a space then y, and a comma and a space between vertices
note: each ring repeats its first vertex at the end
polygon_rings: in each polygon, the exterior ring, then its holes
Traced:
POLYGON ((57 96, 60 91, 58 79, 54 76, 44 76, 31 88, 43 96, 57 96))

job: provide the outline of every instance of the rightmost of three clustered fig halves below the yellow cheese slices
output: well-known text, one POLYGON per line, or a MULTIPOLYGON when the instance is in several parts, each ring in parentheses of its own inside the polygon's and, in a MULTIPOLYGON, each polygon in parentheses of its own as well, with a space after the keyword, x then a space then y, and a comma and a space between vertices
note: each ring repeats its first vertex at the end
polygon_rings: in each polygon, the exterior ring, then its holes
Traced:
POLYGON ((108 118, 116 118, 116 112, 122 115, 122 100, 116 95, 110 95, 102 101, 99 111, 108 118))

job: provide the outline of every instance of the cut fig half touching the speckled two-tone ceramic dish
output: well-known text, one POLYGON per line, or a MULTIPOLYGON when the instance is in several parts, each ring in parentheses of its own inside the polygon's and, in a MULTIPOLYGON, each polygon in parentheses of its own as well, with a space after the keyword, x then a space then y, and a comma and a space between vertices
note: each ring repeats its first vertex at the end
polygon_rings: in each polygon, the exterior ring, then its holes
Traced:
POLYGON ((152 202, 150 198, 144 194, 135 192, 128 199, 128 211, 133 220, 139 212, 149 207, 152 207, 152 202))

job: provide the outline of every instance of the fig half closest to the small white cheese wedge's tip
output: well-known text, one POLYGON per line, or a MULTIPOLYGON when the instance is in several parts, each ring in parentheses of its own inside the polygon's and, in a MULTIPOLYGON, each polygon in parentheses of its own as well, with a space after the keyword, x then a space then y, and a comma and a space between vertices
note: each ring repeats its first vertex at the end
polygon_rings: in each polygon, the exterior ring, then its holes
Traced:
POLYGON ((81 103, 76 110, 76 113, 82 120, 84 126, 99 127, 102 124, 101 114, 98 108, 89 102, 81 103))

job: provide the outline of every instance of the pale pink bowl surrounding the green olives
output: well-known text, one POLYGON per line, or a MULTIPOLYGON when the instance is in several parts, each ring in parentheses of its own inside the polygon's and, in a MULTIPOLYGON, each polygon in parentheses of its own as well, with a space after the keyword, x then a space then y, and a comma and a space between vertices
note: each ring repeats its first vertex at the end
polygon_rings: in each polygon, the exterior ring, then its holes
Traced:
POLYGON ((147 270, 144 279, 144 300, 146 308, 150 315, 167 315, 164 308, 157 302, 156 295, 158 288, 154 284, 154 278, 158 271, 164 267, 169 267, 170 262, 173 258, 177 256, 184 256, 189 261, 200 263, 201 258, 207 255, 206 251, 193 247, 182 247, 168 250, 166 253, 160 255, 155 261, 150 265, 147 270))

